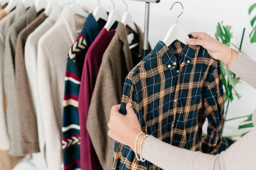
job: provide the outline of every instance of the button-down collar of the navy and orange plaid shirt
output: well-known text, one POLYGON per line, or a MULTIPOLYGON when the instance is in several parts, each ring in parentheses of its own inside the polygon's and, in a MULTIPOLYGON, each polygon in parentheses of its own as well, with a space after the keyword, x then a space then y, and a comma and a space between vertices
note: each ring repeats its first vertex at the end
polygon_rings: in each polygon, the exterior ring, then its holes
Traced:
MULTIPOLYGON (((189 35, 189 38, 193 38, 193 36, 189 35)), ((182 52, 180 53, 180 57, 179 57, 179 62, 182 63, 183 61, 185 61, 186 64, 190 65, 192 58, 195 56, 196 46, 182 44, 178 40, 175 40, 173 43, 176 43, 176 42, 181 44, 181 46, 179 46, 178 48, 179 49, 182 48, 182 52)), ((175 62, 177 58, 171 53, 169 46, 166 46, 164 42, 162 41, 157 42, 157 45, 155 46, 154 49, 162 58, 163 62, 166 64, 168 69, 170 69, 173 65, 176 65, 175 62)))

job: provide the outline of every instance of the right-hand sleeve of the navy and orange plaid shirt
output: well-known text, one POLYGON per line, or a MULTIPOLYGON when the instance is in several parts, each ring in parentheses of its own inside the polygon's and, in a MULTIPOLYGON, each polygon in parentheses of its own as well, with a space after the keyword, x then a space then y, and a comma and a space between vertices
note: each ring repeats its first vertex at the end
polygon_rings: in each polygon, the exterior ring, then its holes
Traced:
POLYGON ((203 115, 208 119, 208 128, 207 137, 203 138, 202 152, 215 155, 227 149, 227 140, 222 137, 224 92, 219 62, 204 82, 203 94, 203 115))

